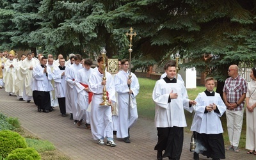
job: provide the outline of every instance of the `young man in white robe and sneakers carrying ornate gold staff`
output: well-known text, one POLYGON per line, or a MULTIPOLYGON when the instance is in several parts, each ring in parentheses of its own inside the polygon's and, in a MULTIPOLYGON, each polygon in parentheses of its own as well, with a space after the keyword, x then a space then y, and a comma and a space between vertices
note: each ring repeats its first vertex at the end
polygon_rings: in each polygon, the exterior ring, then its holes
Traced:
POLYGON ((99 145, 104 145, 104 138, 106 138, 106 145, 115 147, 116 143, 113 140, 113 122, 111 106, 100 106, 100 103, 102 103, 102 93, 104 85, 106 86, 109 104, 115 103, 116 91, 114 79, 111 76, 111 74, 109 74, 109 72, 104 71, 104 63, 102 56, 99 56, 97 61, 99 65, 98 70, 93 72, 89 80, 89 88, 93 92, 91 110, 92 136, 93 140, 98 140, 99 145), (106 72, 106 80, 102 80, 104 72, 106 72))

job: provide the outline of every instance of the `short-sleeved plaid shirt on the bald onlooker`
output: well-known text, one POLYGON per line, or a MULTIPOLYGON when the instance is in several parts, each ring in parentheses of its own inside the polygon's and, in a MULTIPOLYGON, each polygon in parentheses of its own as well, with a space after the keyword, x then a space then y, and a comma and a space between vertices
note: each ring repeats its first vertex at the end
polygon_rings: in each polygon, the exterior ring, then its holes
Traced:
MULTIPOLYGON (((236 103, 243 93, 247 92, 246 80, 239 75, 236 78, 229 77, 226 79, 223 92, 226 92, 227 102, 236 103)), ((244 101, 234 111, 241 111, 244 107, 244 101)))

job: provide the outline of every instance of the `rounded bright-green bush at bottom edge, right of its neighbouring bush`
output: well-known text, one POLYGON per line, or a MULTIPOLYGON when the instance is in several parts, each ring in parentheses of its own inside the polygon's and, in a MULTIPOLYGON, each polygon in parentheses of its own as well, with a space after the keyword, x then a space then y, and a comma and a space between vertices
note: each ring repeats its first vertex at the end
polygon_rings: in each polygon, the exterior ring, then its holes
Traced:
POLYGON ((40 160, 41 157, 36 152, 34 148, 17 148, 13 150, 5 160, 16 160, 16 159, 26 159, 26 160, 40 160))

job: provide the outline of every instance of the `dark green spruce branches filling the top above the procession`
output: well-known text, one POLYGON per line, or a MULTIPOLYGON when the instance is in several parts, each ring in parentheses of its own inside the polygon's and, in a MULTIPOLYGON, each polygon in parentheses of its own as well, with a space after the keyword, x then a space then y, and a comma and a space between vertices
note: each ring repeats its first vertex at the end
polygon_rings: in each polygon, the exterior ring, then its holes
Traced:
POLYGON ((132 27, 138 34, 132 38, 134 67, 179 51, 183 67, 224 81, 223 68, 255 65, 255 8, 254 1, 241 0, 3 0, 0 50, 40 47, 45 54, 89 57, 105 46, 108 58, 127 58, 124 34, 132 27))

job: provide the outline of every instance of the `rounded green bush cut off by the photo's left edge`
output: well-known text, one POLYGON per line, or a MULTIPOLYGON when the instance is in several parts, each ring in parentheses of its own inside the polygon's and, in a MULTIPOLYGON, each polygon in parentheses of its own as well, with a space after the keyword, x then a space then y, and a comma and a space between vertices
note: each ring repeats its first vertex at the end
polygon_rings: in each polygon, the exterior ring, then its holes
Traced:
POLYGON ((16 148, 27 148, 25 138, 13 131, 0 131, 0 155, 7 157, 16 148))

